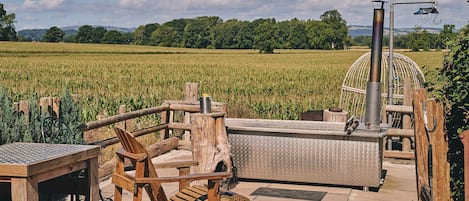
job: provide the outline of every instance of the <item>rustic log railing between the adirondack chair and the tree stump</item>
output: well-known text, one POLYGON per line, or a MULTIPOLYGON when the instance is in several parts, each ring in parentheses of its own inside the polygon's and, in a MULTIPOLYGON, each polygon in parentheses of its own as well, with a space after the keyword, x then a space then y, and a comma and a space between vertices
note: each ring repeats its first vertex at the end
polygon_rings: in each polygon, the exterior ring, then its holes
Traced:
MULTIPOLYGON (((137 131, 133 131, 132 135, 135 137, 147 135, 150 133, 160 132, 160 142, 152 144, 146 147, 151 157, 158 156, 162 153, 168 152, 172 149, 176 149, 179 144, 186 144, 190 146, 189 137, 182 136, 183 140, 180 141, 179 137, 170 137, 174 130, 190 131, 190 118, 192 113, 200 112, 200 103, 197 100, 197 83, 186 83, 185 86, 185 100, 166 100, 161 106, 146 108, 138 111, 125 112, 125 106, 121 106, 119 111, 121 114, 114 115, 111 117, 105 117, 96 121, 87 122, 83 125, 85 132, 101 127, 110 126, 113 124, 120 124, 119 126, 124 129, 129 124, 130 120, 153 114, 161 115, 161 122, 158 125, 143 128, 137 131), (194 98, 195 97, 195 98, 194 98), (183 122, 175 121, 175 113, 182 112, 184 114, 183 122)), ((226 106, 224 103, 212 102, 212 112, 224 112, 226 114, 226 106)), ((96 132, 93 135, 101 135, 96 132)), ((93 136, 89 137, 93 138, 93 136)), ((101 145, 101 147, 107 147, 113 144, 119 143, 116 136, 98 140, 94 142, 88 142, 89 144, 101 145)), ((109 161, 100 166, 99 175, 106 176, 112 173, 115 162, 109 161)))

